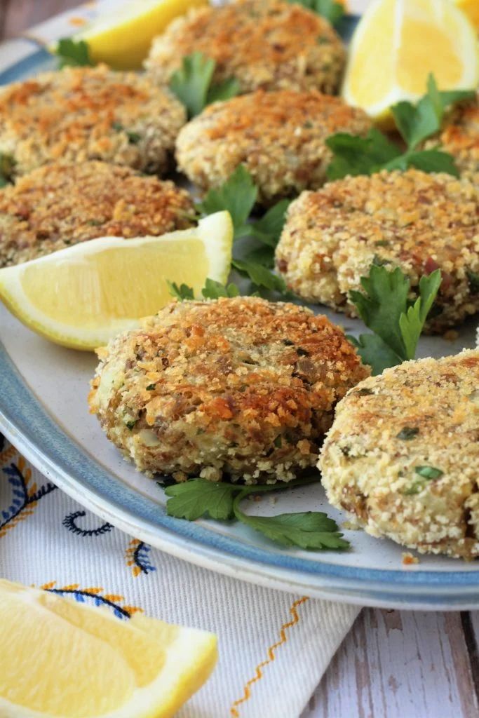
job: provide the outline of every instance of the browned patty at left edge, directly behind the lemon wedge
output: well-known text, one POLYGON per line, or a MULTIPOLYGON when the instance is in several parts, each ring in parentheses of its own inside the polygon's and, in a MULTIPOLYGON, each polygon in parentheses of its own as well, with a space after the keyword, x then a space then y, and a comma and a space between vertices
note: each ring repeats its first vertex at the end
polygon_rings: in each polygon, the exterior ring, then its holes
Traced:
POLYGON ((0 190, 0 266, 96 237, 185 229, 193 214, 173 182, 106 162, 49 164, 0 190))

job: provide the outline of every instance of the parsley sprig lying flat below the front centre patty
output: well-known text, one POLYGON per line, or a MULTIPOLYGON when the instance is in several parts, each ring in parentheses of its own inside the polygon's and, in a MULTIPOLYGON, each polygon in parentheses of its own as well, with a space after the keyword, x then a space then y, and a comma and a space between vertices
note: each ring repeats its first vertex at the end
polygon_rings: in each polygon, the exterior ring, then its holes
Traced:
POLYGON ((241 509, 241 503, 251 495, 271 493, 317 482, 317 477, 304 477, 290 482, 243 486, 205 479, 170 485, 165 493, 169 516, 195 521, 209 516, 218 521, 236 518, 255 531, 282 546, 299 546, 302 549, 348 549, 349 542, 342 538, 338 525, 321 511, 280 513, 276 516, 252 516, 241 509))

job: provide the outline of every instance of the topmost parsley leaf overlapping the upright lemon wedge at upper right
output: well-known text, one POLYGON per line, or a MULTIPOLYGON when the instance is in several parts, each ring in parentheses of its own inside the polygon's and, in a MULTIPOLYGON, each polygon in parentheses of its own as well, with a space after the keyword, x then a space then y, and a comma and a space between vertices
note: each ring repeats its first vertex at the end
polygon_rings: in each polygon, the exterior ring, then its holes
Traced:
POLYGON ((427 78, 427 93, 417 105, 399 102, 391 108, 397 129, 408 149, 415 149, 422 141, 440 130, 447 106, 475 98, 474 90, 440 92, 434 75, 427 78))

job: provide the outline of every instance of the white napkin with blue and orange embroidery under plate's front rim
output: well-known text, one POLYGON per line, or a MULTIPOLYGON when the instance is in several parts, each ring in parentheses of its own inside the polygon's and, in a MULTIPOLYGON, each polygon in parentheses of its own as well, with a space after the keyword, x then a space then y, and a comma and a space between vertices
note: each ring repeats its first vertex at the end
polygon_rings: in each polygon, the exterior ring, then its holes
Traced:
POLYGON ((85 511, 0 439, 0 575, 218 635, 180 718, 298 718, 358 608, 265 589, 151 549, 85 511))

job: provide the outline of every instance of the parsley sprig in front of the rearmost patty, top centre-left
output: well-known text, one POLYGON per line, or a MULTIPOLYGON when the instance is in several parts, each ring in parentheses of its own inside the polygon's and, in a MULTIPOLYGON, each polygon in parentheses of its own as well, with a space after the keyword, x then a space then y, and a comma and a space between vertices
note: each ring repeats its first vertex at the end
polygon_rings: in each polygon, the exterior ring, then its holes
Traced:
POLYGON ((240 85, 236 78, 213 83, 215 67, 213 58, 203 52, 192 52, 183 57, 182 66, 172 74, 169 88, 185 105, 189 117, 199 115, 212 102, 229 100, 238 95, 240 85))

